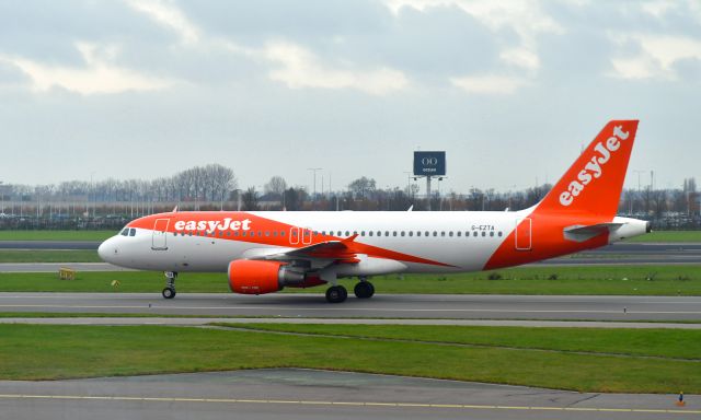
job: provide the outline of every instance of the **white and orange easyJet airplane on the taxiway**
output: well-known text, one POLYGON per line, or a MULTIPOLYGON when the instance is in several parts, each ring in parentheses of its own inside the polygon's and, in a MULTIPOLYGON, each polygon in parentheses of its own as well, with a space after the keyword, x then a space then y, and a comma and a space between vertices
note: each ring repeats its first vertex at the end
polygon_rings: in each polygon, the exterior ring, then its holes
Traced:
MULTIPOLYGON (((390 273, 493 270, 597 248, 651 232, 616 215, 637 120, 611 120, 550 192, 519 211, 176 211, 129 222, 100 245, 116 266, 163 271, 165 299, 181 272, 226 272, 232 292, 265 294, 390 273)), ((544 156, 541 156, 541 159, 544 156)))

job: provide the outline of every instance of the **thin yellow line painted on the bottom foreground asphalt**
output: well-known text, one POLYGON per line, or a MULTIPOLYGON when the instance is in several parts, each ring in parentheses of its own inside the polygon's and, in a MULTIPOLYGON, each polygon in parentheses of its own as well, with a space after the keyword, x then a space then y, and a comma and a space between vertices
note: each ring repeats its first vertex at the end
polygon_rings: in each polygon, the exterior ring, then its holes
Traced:
POLYGON ((637 412, 637 413, 679 413, 701 415, 701 410, 652 409, 652 408, 604 408, 604 407, 527 407, 491 406, 467 404, 422 404, 422 402, 375 402, 375 401, 323 401, 296 399, 241 399, 241 398, 188 398, 188 397, 130 397, 101 395, 28 395, 0 394, 0 399, 58 399, 58 400, 103 400, 141 402, 208 402, 208 404, 287 404, 298 406, 354 406, 354 407, 395 407, 395 408, 453 408, 467 410, 514 410, 514 411, 597 411, 597 412, 637 412))

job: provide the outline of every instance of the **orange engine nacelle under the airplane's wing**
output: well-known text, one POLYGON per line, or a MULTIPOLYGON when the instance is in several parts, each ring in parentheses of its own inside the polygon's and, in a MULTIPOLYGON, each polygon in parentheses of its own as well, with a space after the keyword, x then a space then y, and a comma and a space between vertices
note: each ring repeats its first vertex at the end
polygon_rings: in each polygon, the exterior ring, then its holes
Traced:
POLYGON ((265 294, 304 282, 304 272, 280 261, 234 259, 229 262, 229 288, 234 293, 265 294))

